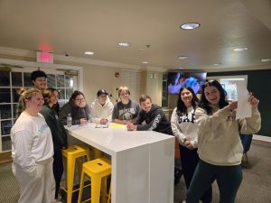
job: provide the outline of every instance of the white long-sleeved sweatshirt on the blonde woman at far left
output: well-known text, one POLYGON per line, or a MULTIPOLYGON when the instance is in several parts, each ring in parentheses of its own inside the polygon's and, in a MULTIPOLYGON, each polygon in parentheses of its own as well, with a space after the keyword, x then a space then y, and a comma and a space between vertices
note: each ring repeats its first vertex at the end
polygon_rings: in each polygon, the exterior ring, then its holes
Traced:
POLYGON ((52 158, 51 130, 43 115, 19 116, 11 130, 14 163, 25 172, 33 173, 36 164, 52 158))

